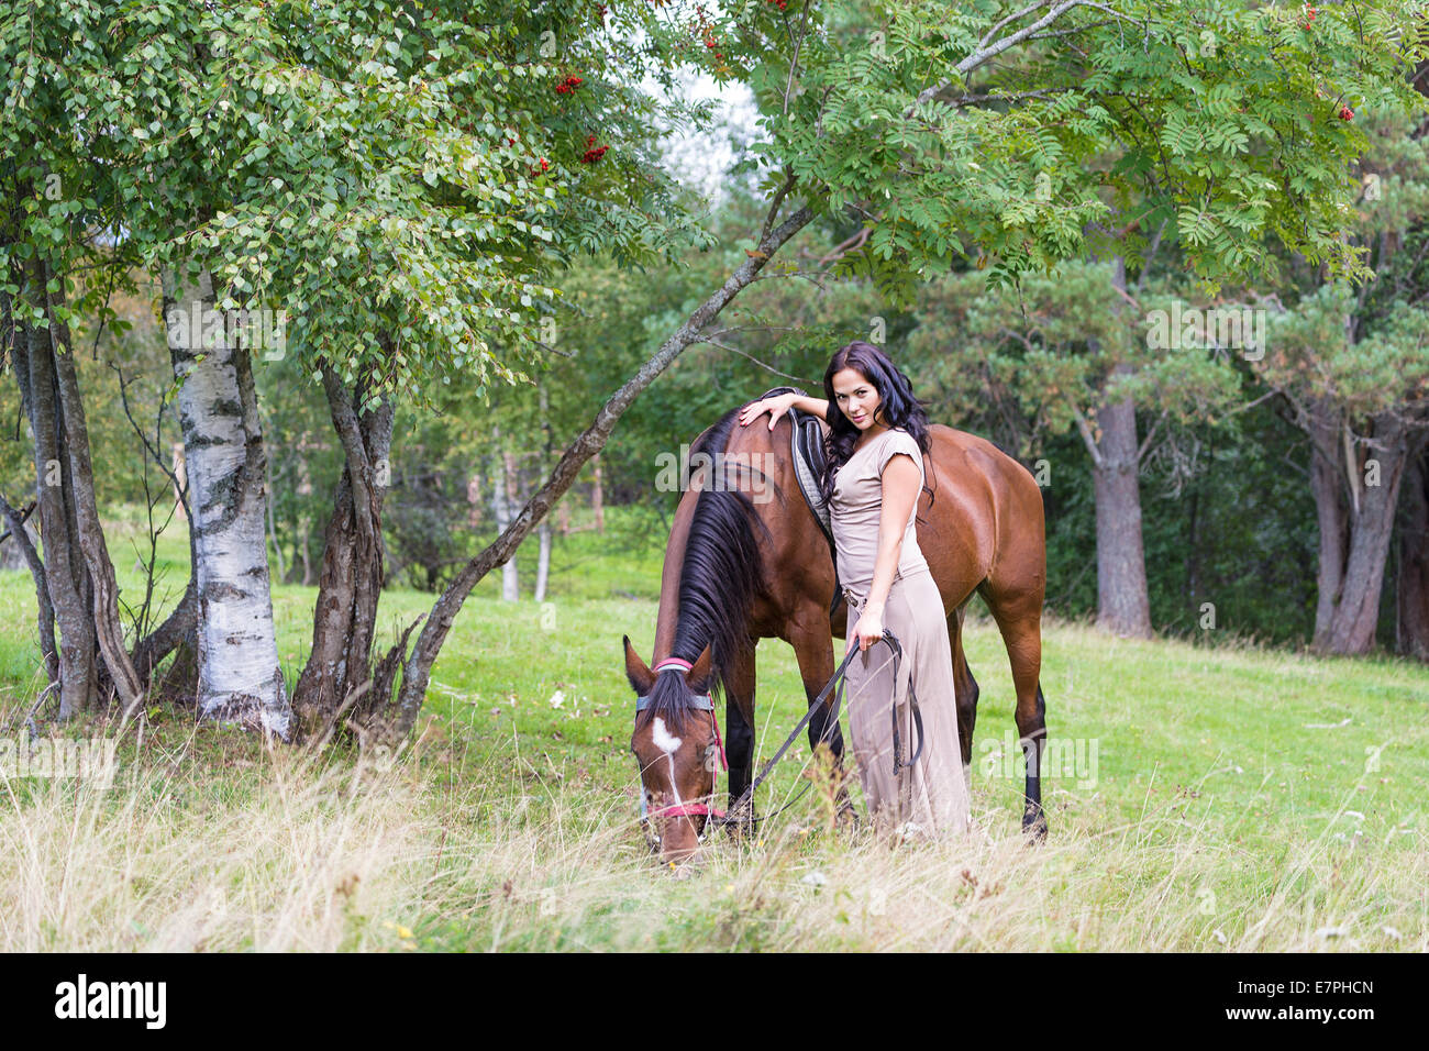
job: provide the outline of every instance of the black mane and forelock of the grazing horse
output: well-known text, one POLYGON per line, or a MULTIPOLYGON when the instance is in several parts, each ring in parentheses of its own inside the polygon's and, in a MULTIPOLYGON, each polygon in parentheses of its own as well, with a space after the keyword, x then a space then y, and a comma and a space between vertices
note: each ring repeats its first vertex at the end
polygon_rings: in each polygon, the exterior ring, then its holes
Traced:
MULTIPOLYGON (((690 449, 690 460, 700 452, 710 456, 725 452, 737 415, 736 406, 720 416, 690 449)), ((689 480, 686 476, 686 485, 689 480)), ((749 609, 760 581, 753 523, 757 522, 765 536, 769 535, 769 526, 760 520, 753 500, 730 485, 732 476, 720 488, 703 489, 694 503, 680 569, 674 643, 670 646, 672 656, 690 663, 699 659, 706 645, 712 648, 710 694, 716 702, 725 694, 725 678, 735 658, 750 649, 749 609)), ((697 709, 690 705, 686 673, 670 668, 654 676, 650 704, 640 712, 636 725, 644 726, 662 715, 672 732, 679 734, 684 716, 693 711, 697 709)))

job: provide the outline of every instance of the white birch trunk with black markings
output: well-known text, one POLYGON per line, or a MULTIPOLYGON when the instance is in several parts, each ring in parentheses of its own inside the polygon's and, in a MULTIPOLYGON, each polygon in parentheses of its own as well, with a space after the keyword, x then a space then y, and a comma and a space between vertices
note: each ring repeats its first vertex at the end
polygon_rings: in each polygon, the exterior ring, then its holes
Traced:
POLYGON ((164 322, 184 438, 199 592, 199 715, 290 739, 269 591, 267 459, 247 347, 214 309, 213 279, 164 273, 164 322))

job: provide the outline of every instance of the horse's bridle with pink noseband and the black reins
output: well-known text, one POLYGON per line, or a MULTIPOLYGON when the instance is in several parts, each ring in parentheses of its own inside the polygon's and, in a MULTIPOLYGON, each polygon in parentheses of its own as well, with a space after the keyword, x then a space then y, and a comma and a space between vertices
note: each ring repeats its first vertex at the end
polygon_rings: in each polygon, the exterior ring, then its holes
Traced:
MULTIPOLYGON (((893 682, 896 684, 897 682, 899 663, 903 661, 903 646, 899 643, 897 636, 892 631, 889 631, 887 628, 883 629, 883 638, 880 638, 879 642, 887 643, 889 649, 893 651, 893 682)), ((829 682, 825 684, 825 688, 822 691, 819 691, 819 696, 815 698, 813 702, 809 705, 809 711, 805 712, 803 718, 799 721, 799 725, 793 728, 793 731, 789 734, 787 738, 785 738, 785 742, 779 746, 779 751, 776 751, 773 754, 773 756, 770 756, 770 759, 765 764, 765 768, 762 771, 759 771, 759 775, 753 781, 749 782, 749 785, 740 794, 739 799, 735 801, 730 805, 730 811, 736 811, 737 812, 740 808, 745 806, 746 802, 753 801, 753 798, 755 798, 755 789, 759 788, 759 785, 765 781, 765 778, 769 776, 770 771, 773 771, 773 768, 775 768, 775 764, 777 764, 783 758, 785 752, 789 751, 789 746, 795 741, 799 739, 799 735, 803 732, 803 728, 807 726, 809 721, 813 718, 813 714, 816 711, 819 711, 819 708, 823 706, 823 704, 829 698, 829 695, 835 692, 835 689, 833 689, 835 685, 837 685, 839 689, 837 689, 837 694, 835 694, 833 712, 830 714, 829 721, 825 724, 823 734, 819 738, 819 744, 825 744, 829 739, 830 731, 835 726, 839 725, 839 709, 843 706, 845 672, 847 671, 849 661, 852 661, 853 655, 859 653, 859 652, 862 652, 862 651, 857 646, 850 646, 849 648, 849 651, 843 655, 843 661, 835 669, 833 678, 830 678, 829 682)), ((654 672, 662 672, 666 668, 680 668, 680 669, 689 672, 692 666, 693 665, 690 665, 689 661, 682 661, 677 656, 670 656, 670 658, 666 658, 664 661, 662 661, 653 671, 654 672)), ((895 695, 893 699, 890 701, 890 705, 889 705, 890 715, 893 716, 893 776, 897 776, 897 772, 900 769, 907 769, 913 764, 916 764, 917 758, 923 754, 923 744, 925 744, 923 742, 923 714, 919 711, 919 706, 917 706, 917 692, 913 689, 913 681, 912 679, 909 679, 909 684, 907 684, 907 701, 909 701, 909 712, 913 716, 913 729, 917 734, 917 748, 913 749, 913 754, 906 761, 899 755, 899 748, 900 748, 899 736, 900 735, 899 735, 899 725, 897 725, 897 696, 895 695)), ((714 698, 712 695, 709 695, 709 694, 696 694, 694 698, 693 698, 693 701, 690 704, 692 704, 692 706, 694 706, 694 708, 697 708, 700 711, 707 711, 710 714, 710 726, 714 729, 714 742, 719 745, 720 764, 727 771, 729 769, 729 761, 725 758, 725 742, 720 741, 720 736, 719 736, 719 722, 714 718, 714 698)), ((642 696, 636 698, 636 702, 634 702, 636 712, 640 712, 640 711, 643 711, 644 708, 649 708, 649 706, 650 706, 650 698, 649 698, 649 695, 642 695, 642 696)), ((673 778, 672 778, 672 785, 673 785, 673 778)), ((813 782, 807 782, 799 791, 799 795, 796 795, 793 799, 790 799, 789 802, 786 802, 783 806, 780 806, 773 814, 766 814, 762 818, 749 818, 749 821, 752 821, 752 822, 767 821, 769 818, 775 816, 775 814, 780 814, 780 812, 789 809, 796 802, 799 802, 799 799, 803 796, 805 792, 809 791, 809 788, 812 785, 813 785, 813 782)), ((652 818, 652 816, 704 815, 704 822, 703 822, 703 827, 700 828, 700 832, 699 832, 699 841, 700 842, 704 842, 704 835, 709 831, 712 822, 714 825, 733 824, 733 821, 729 816, 726 816, 725 811, 716 809, 713 806, 714 791, 716 791, 717 786, 719 786, 719 771, 714 771, 714 784, 710 786, 710 795, 709 795, 710 805, 704 805, 704 804, 684 804, 684 802, 682 802, 682 804, 676 804, 674 806, 660 806, 656 811, 647 812, 646 801, 644 801, 644 779, 642 776, 642 781, 640 781, 640 827, 642 827, 642 829, 644 829, 646 838, 650 841, 650 848, 652 849, 659 849, 659 847, 660 847, 660 837, 653 835, 649 831, 649 818, 652 818)))

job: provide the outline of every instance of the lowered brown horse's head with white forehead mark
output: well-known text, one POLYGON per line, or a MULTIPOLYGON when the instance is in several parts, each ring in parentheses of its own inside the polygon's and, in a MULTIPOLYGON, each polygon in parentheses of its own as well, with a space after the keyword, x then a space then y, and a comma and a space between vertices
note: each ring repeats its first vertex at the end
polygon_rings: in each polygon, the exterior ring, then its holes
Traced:
POLYGON ((713 831, 714 776, 725 765, 710 696, 710 648, 690 665, 666 658, 654 671, 624 639, 626 678, 634 688, 636 716, 630 751, 640 764, 642 815, 649 821, 660 858, 687 862, 713 831))

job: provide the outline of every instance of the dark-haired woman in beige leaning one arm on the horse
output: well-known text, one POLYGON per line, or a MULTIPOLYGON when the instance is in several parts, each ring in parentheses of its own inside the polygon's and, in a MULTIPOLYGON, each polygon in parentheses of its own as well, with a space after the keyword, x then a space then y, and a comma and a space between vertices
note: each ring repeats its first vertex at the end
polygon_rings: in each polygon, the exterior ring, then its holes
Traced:
MULTIPOLYGON (((845 585, 849 645, 846 691, 853 755, 875 822, 899 837, 960 832, 970 827, 967 782, 957 741, 953 653, 937 583, 917 546, 917 495, 927 452, 927 415, 912 385, 872 343, 842 347, 823 373, 826 400, 779 395, 745 406, 742 425, 769 413, 769 428, 790 408, 829 425, 820 482, 833 525, 845 585), (893 652, 875 645, 889 628, 903 646, 893 681, 893 652), (889 702, 897 696, 899 758, 917 745, 909 684, 923 719, 923 752, 893 771, 889 702)), ((932 490, 929 489, 932 495, 932 490)))

